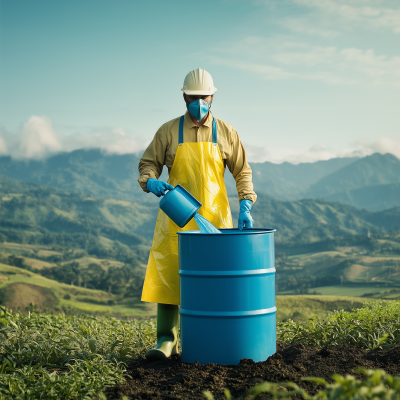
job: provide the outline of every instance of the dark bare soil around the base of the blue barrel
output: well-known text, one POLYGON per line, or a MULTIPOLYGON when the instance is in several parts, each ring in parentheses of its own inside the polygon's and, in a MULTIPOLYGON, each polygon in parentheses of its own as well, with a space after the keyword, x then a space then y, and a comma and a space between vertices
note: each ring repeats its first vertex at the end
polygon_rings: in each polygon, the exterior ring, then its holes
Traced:
MULTIPOLYGON (((180 356, 166 361, 142 360, 132 364, 127 381, 109 390, 108 399, 203 399, 202 391, 209 390, 216 399, 225 399, 223 392, 228 388, 234 397, 243 394, 254 385, 264 382, 291 381, 306 389, 310 394, 318 386, 301 381, 302 377, 317 376, 327 380, 331 375, 363 374, 355 369, 382 368, 387 373, 400 375, 400 348, 391 351, 368 353, 351 346, 316 350, 301 344, 284 346, 267 361, 255 363, 242 360, 239 365, 185 364, 180 356)), ((259 396, 260 399, 267 395, 259 396)))

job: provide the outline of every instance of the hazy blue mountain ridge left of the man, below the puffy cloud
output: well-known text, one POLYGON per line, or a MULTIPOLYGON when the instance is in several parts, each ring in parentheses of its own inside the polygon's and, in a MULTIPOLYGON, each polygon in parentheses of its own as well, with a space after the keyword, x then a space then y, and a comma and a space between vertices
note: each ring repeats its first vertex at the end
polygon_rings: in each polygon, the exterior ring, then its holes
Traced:
POLYGON ((0 173, 23 182, 133 201, 145 195, 137 182, 139 160, 136 154, 106 155, 100 150, 76 150, 43 161, 7 156, 0 157, 0 173))

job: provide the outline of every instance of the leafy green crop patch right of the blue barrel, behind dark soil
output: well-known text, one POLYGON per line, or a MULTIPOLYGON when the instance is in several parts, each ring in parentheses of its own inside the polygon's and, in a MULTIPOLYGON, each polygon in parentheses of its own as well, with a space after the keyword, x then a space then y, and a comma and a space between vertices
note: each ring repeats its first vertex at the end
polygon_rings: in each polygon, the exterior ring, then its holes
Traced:
POLYGON ((324 320, 289 320, 277 326, 277 338, 317 348, 352 345, 368 350, 400 343, 400 302, 365 303, 352 312, 336 311, 324 320))

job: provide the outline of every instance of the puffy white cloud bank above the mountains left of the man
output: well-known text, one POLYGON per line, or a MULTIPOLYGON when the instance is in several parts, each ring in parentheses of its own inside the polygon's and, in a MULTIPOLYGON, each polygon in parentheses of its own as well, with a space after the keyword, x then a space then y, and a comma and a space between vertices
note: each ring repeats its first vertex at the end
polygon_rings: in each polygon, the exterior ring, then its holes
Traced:
POLYGON ((122 128, 98 129, 94 133, 61 135, 54 131, 51 120, 31 116, 19 133, 1 132, 0 154, 16 159, 43 159, 62 151, 101 149, 106 153, 135 153, 143 148, 122 128))

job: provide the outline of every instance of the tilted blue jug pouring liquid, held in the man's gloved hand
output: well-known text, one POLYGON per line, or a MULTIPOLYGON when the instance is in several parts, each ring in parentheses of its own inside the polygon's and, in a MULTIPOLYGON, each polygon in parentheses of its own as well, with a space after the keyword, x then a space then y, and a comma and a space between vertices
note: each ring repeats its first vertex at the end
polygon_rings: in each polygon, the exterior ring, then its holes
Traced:
POLYGON ((160 208, 183 228, 196 214, 202 204, 183 186, 176 185, 160 201, 160 208))

